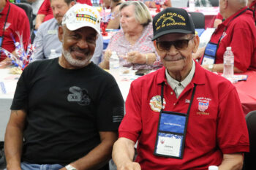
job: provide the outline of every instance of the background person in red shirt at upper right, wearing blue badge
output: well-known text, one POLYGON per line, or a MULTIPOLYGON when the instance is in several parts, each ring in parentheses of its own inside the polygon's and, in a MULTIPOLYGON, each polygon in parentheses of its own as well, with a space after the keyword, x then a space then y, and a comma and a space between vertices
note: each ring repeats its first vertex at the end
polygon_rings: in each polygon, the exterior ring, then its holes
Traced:
POLYGON ((232 47, 235 73, 256 70, 256 28, 252 11, 246 7, 246 0, 229 2, 219 1, 219 12, 225 21, 219 24, 208 45, 198 50, 194 58, 200 58, 205 69, 223 72, 223 55, 227 47, 232 47), (209 51, 213 53, 211 61, 206 63, 205 56, 209 51))

